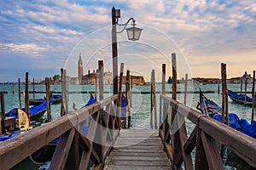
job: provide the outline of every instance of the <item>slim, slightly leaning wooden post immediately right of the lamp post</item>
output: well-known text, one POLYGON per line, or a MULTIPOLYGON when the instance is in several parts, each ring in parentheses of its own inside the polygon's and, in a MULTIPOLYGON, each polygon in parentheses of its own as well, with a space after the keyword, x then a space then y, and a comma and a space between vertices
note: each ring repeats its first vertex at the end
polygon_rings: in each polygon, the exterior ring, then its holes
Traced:
POLYGON ((124 74, 124 63, 121 63, 120 76, 119 76, 119 93, 118 93, 118 103, 117 103, 118 116, 119 116, 119 130, 121 130, 121 127, 122 127, 121 103, 122 103, 122 80, 123 80, 123 74, 124 74))

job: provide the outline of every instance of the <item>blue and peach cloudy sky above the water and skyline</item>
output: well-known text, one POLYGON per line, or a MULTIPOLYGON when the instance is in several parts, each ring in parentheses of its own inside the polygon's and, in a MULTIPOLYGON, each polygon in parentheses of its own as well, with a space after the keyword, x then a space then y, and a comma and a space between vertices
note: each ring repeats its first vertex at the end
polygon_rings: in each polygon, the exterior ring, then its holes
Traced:
POLYGON ((137 42, 125 31, 117 35, 119 64, 134 75, 149 80, 154 69, 160 82, 165 63, 172 76, 173 53, 178 78, 220 77, 221 63, 228 77, 255 70, 255 0, 0 0, 0 82, 24 81, 26 71, 37 81, 61 68, 77 77, 79 53, 84 73, 99 59, 112 71, 113 7, 121 10, 119 23, 133 17, 143 28, 137 42))

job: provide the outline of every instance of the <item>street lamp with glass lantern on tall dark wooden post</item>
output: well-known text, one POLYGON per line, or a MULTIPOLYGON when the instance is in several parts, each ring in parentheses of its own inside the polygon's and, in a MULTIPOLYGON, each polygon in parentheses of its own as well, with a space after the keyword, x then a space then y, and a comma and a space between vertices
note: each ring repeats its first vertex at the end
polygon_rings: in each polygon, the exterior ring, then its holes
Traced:
POLYGON ((125 24, 119 24, 120 9, 112 8, 112 58, 113 58, 113 94, 118 94, 118 58, 117 58, 117 33, 121 33, 126 30, 128 39, 131 41, 139 40, 141 32, 143 29, 137 28, 135 20, 133 18, 127 20, 125 24), (126 28, 126 26, 131 23, 131 28, 126 28), (116 25, 124 26, 121 31, 116 31, 116 25), (126 28, 126 29, 125 29, 126 28))

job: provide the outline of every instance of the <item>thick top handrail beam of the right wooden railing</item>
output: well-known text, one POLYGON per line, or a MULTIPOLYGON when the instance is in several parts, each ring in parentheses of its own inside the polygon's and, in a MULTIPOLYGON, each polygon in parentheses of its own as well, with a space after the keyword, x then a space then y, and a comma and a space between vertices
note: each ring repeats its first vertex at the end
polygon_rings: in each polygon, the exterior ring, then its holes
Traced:
MULTIPOLYGON (((171 105, 172 108, 177 111, 177 114, 186 116, 189 121, 195 123, 196 126, 198 126, 198 122, 200 121, 198 127, 201 129, 201 131, 210 135, 213 139, 220 142, 220 144, 224 144, 224 146, 232 150, 244 161, 247 161, 247 163, 252 167, 256 167, 256 159, 253 157, 256 154, 255 139, 231 127, 228 127, 224 123, 218 122, 209 116, 202 116, 201 112, 195 111, 194 109, 183 105, 165 94, 160 94, 160 100, 162 99, 169 102, 169 105, 171 105)), ((161 102, 161 104, 163 103, 164 102, 161 102)))

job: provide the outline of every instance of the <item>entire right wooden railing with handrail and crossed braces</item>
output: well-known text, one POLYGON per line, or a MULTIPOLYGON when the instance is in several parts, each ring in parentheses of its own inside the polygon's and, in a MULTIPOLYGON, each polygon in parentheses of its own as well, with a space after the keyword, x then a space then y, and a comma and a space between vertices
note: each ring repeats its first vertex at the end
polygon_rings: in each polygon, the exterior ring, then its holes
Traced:
POLYGON ((199 111, 164 94, 160 95, 160 114, 164 117, 160 124, 160 137, 173 167, 179 168, 183 164, 185 169, 224 169, 217 146, 218 142, 256 168, 255 139, 217 122, 209 116, 202 115, 199 111), (195 124, 189 137, 185 119, 195 124), (191 157, 191 152, 194 149, 195 160, 191 157))

